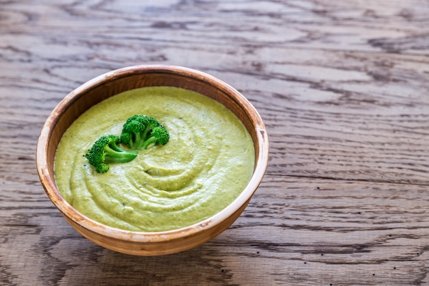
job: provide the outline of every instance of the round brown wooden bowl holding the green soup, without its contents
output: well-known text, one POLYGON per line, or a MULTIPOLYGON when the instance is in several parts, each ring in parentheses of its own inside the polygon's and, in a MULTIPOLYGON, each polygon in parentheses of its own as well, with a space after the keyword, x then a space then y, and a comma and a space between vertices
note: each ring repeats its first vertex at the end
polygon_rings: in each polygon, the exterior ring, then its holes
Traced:
POLYGON ((241 215, 262 181, 268 164, 268 151, 267 131, 260 115, 243 95, 228 84, 206 73, 180 66, 130 66, 91 79, 73 90, 53 109, 40 131, 36 164, 40 182, 52 203, 84 237, 100 246, 131 255, 166 255, 207 242, 241 215), (58 192, 54 179, 53 163, 58 142, 72 122, 91 106, 110 96, 147 86, 184 88, 219 101, 240 118, 254 142, 254 173, 245 190, 215 216, 182 229, 147 233, 100 224, 67 203, 58 192))

